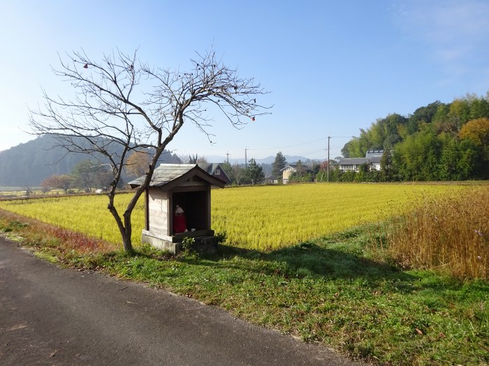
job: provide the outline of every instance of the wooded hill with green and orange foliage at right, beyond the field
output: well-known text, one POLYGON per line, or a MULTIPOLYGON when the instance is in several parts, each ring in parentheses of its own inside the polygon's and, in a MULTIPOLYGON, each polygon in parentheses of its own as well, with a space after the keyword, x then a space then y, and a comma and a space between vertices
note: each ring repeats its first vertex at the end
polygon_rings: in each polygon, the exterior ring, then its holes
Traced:
POLYGON ((489 93, 389 114, 344 145, 345 158, 383 148, 387 181, 489 179, 489 93))

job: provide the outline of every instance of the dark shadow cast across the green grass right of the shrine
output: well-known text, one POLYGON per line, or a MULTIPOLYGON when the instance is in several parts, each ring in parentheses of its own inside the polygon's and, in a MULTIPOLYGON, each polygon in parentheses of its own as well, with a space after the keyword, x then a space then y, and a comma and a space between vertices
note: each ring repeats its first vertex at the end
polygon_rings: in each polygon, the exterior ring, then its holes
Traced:
POLYGON ((340 248, 335 246, 337 244, 335 238, 330 237, 299 243, 272 252, 219 245, 217 254, 182 257, 180 260, 198 266, 235 268, 264 275, 281 275, 284 278, 363 278, 372 282, 386 279, 407 282, 414 280, 413 276, 395 266, 363 257, 361 244, 355 243, 355 239, 354 236, 345 240, 340 238, 340 243, 345 243, 340 245, 340 248))

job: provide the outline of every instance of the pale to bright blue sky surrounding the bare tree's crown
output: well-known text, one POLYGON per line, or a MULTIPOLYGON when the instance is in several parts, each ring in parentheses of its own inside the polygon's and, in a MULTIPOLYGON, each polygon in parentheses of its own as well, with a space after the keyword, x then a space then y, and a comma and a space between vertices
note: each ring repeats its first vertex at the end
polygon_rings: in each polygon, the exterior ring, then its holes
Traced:
POLYGON ((27 142, 41 87, 63 95, 58 54, 92 59, 119 47, 179 68, 213 45, 255 77, 274 105, 242 130, 214 119, 214 144, 184 125, 177 155, 325 158, 360 128, 440 100, 489 90, 489 1, 0 1, 0 151, 27 142))

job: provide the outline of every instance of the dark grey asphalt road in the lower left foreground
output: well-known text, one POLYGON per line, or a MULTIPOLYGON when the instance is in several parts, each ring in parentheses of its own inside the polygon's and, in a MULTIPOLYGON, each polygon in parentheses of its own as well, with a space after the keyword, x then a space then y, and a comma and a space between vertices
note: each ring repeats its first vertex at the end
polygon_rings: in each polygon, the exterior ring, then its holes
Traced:
POLYGON ((360 365, 216 307, 59 268, 0 237, 0 365, 360 365))

